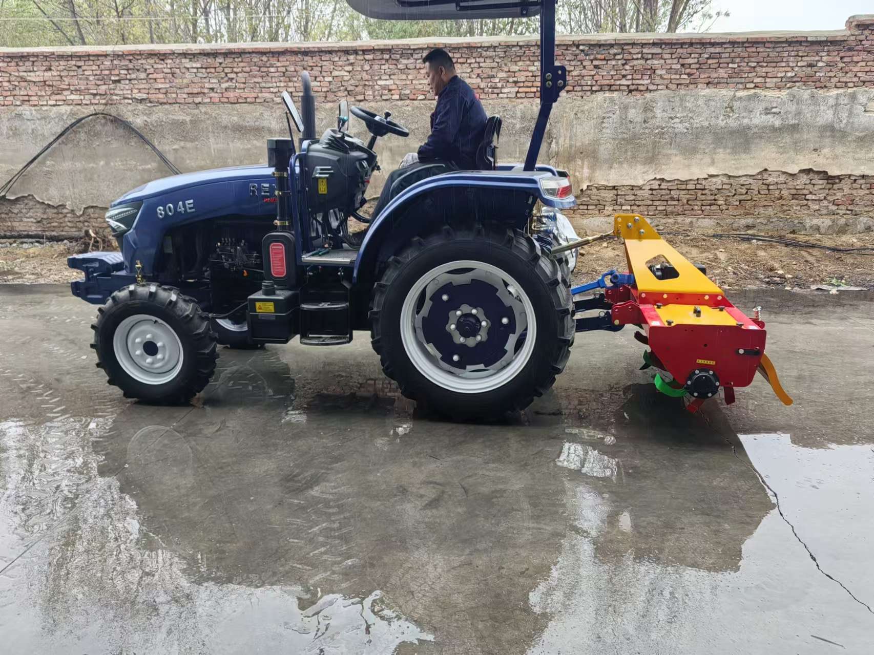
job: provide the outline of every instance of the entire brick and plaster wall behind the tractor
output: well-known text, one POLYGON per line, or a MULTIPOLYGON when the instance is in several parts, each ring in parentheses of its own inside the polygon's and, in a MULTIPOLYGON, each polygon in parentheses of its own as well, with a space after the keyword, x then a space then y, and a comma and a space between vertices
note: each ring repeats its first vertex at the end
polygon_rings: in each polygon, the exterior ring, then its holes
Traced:
MULTIPOLYGON (((285 131, 279 94, 299 93, 303 69, 321 103, 319 128, 343 97, 391 108, 411 128, 409 139, 379 141, 390 169, 427 135, 434 100, 419 59, 435 44, 0 49, 0 181, 94 111, 129 121, 183 170, 265 162, 265 140, 285 131)), ((499 158, 521 161, 538 108, 536 43, 440 45, 489 114, 502 115, 499 158)), ((577 217, 641 210, 774 229, 786 217, 815 217, 817 231, 874 224, 874 17, 829 32, 563 37, 558 61, 569 85, 540 159, 571 171, 577 217)), ((364 135, 355 119, 352 130, 364 135)), ((0 199, 0 234, 100 224, 95 208, 167 173, 127 128, 91 119, 0 199)))

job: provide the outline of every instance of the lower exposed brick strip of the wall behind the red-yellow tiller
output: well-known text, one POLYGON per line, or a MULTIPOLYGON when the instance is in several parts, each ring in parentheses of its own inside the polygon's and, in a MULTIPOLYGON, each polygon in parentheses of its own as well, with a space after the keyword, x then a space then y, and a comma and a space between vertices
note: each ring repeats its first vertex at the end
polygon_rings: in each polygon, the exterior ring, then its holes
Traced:
POLYGON ((874 216, 874 176, 763 170, 641 185, 593 184, 577 194, 576 216, 622 211, 648 217, 874 216))

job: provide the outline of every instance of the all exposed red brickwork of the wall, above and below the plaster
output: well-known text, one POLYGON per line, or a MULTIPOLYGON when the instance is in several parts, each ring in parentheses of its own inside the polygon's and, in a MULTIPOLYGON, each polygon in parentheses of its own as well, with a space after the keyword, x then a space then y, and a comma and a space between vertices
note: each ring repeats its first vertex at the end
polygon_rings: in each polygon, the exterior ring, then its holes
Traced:
MULTIPOLYGON (((451 49, 484 99, 536 102, 538 46, 526 38, 0 49, 0 119, 12 117, 9 126, 20 125, 22 115, 31 120, 46 106, 161 105, 172 111, 173 105, 274 103, 282 90, 298 87, 304 69, 313 76, 320 102, 425 100, 429 93, 420 57, 434 45, 451 49)), ((569 73, 566 95, 577 97, 874 88, 874 16, 852 17, 841 31, 560 37, 557 49, 558 62, 569 73)), ((93 109, 79 109, 87 111, 93 109)), ((794 175, 764 170, 747 176, 592 185, 579 191, 574 214, 872 216, 872 183, 874 176, 829 176, 808 169, 794 175)), ((33 196, 0 198, 0 233, 79 234, 86 227, 103 228, 102 214, 95 207, 80 214, 33 196)))

